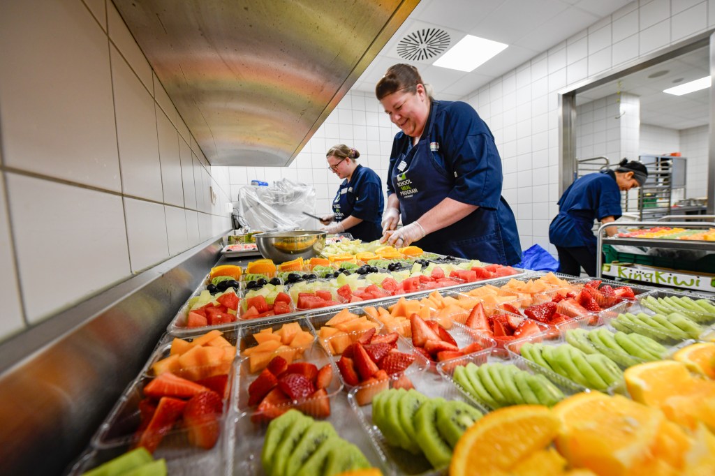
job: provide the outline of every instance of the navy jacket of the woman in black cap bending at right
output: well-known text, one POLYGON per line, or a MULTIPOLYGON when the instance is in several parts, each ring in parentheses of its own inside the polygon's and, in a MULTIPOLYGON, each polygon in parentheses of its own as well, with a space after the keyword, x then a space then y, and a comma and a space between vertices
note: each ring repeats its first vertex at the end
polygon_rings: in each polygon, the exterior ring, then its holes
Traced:
POLYGON ((612 170, 576 179, 558 200, 558 215, 548 227, 548 240, 557 247, 586 247, 596 254, 593 220, 621 217, 621 189, 612 170))

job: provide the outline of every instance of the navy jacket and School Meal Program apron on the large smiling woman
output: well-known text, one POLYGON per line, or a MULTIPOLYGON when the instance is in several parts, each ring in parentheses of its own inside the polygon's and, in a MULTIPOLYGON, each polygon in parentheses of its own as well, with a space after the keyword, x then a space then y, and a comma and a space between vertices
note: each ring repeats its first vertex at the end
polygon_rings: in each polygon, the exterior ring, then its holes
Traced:
POLYGON ((516 219, 501 196, 501 158, 494 136, 469 104, 432 101, 416 146, 403 132, 395 135, 388 177, 388 194, 398 194, 403 224, 414 222, 446 197, 479 207, 415 245, 488 263, 521 260, 516 219))

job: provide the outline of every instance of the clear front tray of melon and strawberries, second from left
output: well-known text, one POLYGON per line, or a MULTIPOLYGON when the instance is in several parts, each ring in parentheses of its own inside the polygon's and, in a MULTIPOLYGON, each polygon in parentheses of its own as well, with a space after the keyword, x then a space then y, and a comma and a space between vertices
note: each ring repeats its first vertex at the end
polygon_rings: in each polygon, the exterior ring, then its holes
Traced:
POLYGON ((342 383, 305 319, 257 324, 242 329, 241 335, 244 358, 236 376, 238 412, 262 414, 257 421, 280 416, 292 407, 313 417, 330 415, 330 397, 340 392, 342 383))

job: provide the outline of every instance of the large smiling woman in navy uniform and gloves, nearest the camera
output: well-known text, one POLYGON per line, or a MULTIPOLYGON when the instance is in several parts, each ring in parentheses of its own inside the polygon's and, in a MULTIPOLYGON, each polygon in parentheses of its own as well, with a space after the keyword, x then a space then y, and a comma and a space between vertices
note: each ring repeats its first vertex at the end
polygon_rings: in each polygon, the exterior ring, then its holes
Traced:
POLYGON ((383 242, 483 262, 521 259, 516 220, 501 197, 501 158, 476 111, 437 101, 414 66, 395 64, 375 86, 401 129, 388 169, 383 242), (405 226, 397 229, 402 217, 405 226))

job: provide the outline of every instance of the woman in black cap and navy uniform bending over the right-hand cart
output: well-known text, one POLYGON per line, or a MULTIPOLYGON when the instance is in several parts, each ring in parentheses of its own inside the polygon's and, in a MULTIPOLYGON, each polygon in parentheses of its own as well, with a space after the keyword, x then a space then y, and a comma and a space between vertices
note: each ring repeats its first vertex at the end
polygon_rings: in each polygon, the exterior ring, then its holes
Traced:
MULTIPOLYGON (((648 178, 641 162, 623 159, 618 168, 586 174, 576 179, 558 199, 558 215, 548 227, 548 240, 558 252, 558 272, 578 276, 581 267, 596 276, 596 236, 593 220, 610 223, 621 217, 621 190, 640 187, 648 178)), ((613 236, 616 227, 606 228, 613 236)))

